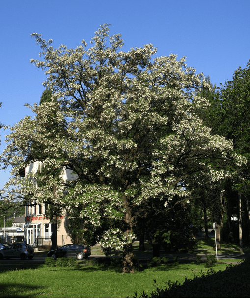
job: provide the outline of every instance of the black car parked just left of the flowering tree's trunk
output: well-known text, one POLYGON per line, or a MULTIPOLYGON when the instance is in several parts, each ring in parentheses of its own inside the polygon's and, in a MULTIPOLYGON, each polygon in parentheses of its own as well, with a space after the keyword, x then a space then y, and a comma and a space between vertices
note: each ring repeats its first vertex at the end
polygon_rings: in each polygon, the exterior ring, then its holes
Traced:
POLYGON ((67 244, 61 248, 50 250, 48 257, 56 260, 57 258, 77 258, 78 260, 87 259, 91 255, 89 246, 81 244, 67 244))

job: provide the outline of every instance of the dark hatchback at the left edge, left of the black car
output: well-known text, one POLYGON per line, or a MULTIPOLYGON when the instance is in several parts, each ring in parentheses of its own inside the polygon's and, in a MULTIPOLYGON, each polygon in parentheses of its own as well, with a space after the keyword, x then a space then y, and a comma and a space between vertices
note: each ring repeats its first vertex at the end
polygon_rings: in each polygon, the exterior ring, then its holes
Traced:
POLYGON ((34 256, 34 249, 29 244, 10 244, 2 249, 0 249, 0 260, 6 258, 21 258, 25 260, 28 258, 31 260, 34 256))

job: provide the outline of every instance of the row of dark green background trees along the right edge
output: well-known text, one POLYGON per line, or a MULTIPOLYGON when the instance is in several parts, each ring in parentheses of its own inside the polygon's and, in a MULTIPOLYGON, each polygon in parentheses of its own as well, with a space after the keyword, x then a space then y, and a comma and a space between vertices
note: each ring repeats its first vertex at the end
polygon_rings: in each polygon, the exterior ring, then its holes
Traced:
MULTIPOLYGON (((212 129, 213 134, 233 140, 233 150, 245 157, 238 177, 224 179, 211 193, 200 189, 197 202, 204 210, 209 209, 216 222, 218 243, 220 241, 239 242, 240 249, 250 245, 250 62, 247 67, 239 67, 232 81, 221 87, 212 86, 201 95, 208 99, 210 107, 200 113, 200 117, 212 129), (232 222, 231 218, 237 220, 232 222)), ((230 163, 230 161, 228 161, 230 163)), ((232 167, 233 170, 233 167, 232 167)))

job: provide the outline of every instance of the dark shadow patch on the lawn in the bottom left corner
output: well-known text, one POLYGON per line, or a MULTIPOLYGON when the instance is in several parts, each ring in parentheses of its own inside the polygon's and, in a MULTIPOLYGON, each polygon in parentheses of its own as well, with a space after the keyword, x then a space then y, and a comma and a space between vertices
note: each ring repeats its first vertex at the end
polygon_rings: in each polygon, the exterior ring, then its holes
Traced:
POLYGON ((22 283, 0 283, 0 297, 35 297, 36 294, 45 294, 45 288, 22 283))

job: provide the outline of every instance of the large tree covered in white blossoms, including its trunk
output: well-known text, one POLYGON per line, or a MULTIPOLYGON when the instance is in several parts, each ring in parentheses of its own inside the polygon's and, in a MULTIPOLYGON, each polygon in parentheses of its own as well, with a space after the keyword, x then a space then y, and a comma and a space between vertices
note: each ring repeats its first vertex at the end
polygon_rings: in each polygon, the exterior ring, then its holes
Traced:
POLYGON ((152 198, 183 202, 187 178, 202 183, 226 175, 218 165, 231 143, 211 135, 196 116, 208 105, 197 96, 206 82, 185 58, 153 59, 150 44, 121 51, 121 36, 110 37, 107 24, 89 48, 83 40, 76 49, 54 49, 52 40, 32 36, 43 59, 31 62, 45 71, 53 95, 30 106, 34 118, 25 117, 7 136, 1 161, 12 165, 8 199, 32 197, 63 207, 69 217, 77 214, 104 247, 123 248, 122 271, 133 272, 138 206, 152 198), (46 170, 20 179, 31 161, 46 170), (65 182, 54 174, 65 168, 78 178, 65 182))

